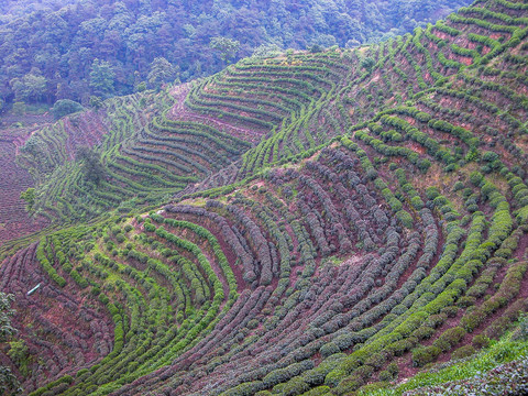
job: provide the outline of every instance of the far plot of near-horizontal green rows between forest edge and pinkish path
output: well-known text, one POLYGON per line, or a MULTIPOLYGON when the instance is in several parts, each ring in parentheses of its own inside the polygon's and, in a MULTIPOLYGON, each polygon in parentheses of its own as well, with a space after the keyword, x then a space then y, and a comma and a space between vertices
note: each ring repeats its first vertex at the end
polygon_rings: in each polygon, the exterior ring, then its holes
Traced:
POLYGON ((339 52, 244 59, 191 90, 186 105, 270 131, 295 118, 346 75, 339 52))

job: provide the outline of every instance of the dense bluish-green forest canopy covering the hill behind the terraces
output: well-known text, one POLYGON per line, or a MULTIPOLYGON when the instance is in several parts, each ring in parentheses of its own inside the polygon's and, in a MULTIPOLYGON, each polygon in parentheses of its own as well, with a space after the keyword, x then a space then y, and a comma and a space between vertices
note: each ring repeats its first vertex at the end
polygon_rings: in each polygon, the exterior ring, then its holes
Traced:
POLYGON ((142 81, 157 87, 170 80, 158 73, 160 63, 152 74, 156 58, 166 59, 185 81, 262 45, 354 46, 410 31, 470 2, 2 1, 0 100, 86 105, 91 95, 129 94, 142 81))

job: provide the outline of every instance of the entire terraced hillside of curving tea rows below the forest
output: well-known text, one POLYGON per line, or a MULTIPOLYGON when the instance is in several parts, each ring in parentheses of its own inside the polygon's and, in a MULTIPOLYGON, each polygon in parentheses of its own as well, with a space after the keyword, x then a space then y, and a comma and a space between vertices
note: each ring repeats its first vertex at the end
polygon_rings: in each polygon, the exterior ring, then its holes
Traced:
POLYGON ((0 361, 29 395, 312 396, 485 348, 528 310, 527 35, 528 3, 476 1, 113 99, 99 184, 88 116, 33 134, 56 230, 0 266, 28 346, 0 361))

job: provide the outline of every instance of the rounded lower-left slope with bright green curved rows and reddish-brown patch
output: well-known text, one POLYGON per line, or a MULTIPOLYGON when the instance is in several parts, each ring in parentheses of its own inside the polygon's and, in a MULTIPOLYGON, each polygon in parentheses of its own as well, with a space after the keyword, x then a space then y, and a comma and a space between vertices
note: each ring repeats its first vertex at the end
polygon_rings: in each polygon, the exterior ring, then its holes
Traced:
POLYGON ((156 228, 143 218, 54 233, 7 260, 2 275, 2 290, 20 296, 28 392, 50 381, 53 392, 111 392, 118 380, 133 381, 196 344, 238 296, 211 232, 187 222, 156 228), (41 284, 32 296, 28 282, 41 284), (61 322, 61 309, 76 320, 61 322))

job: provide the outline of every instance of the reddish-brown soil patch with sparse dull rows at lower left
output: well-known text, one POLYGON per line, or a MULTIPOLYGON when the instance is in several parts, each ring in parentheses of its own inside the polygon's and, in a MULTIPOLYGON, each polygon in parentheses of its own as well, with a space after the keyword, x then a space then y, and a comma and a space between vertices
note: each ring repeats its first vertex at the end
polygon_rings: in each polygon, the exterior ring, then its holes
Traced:
POLYGON ((36 261, 36 248, 19 251, 0 266, 0 290, 15 296, 13 324, 30 353, 22 384, 26 392, 94 365, 113 343, 113 323, 102 305, 87 299, 72 279, 64 288, 53 283, 36 261))

